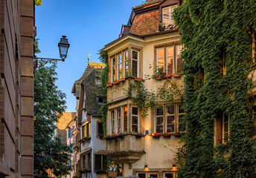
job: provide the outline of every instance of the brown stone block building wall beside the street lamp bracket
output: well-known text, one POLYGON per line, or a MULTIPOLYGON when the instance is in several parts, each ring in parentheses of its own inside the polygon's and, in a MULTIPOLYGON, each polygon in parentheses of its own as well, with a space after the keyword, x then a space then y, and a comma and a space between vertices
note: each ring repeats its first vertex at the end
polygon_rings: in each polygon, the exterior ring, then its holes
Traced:
POLYGON ((33 177, 33 0, 0 0, 0 177, 33 177))

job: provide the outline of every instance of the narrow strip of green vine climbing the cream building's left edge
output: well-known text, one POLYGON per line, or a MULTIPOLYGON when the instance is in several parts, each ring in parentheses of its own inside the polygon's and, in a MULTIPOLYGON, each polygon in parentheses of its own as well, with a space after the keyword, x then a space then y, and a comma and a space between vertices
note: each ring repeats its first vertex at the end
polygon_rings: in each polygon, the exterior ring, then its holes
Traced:
MULTIPOLYGON (((102 88, 105 90, 105 98, 106 98, 106 84, 108 82, 108 72, 109 72, 109 65, 108 65, 108 54, 104 50, 100 50, 100 62, 105 63, 106 67, 103 68, 100 74, 100 82, 102 88)), ((102 113, 102 123, 103 123, 103 132, 104 136, 106 136, 106 117, 107 117, 108 107, 106 103, 102 105, 101 107, 101 113, 102 113)))

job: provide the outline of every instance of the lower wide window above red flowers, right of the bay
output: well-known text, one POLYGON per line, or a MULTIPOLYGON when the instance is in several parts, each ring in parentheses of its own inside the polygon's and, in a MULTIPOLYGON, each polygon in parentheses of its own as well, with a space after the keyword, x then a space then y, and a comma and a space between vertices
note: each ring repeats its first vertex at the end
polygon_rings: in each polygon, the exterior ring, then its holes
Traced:
POLYGON ((155 128, 158 133, 186 131, 185 112, 181 104, 164 105, 155 108, 155 128))

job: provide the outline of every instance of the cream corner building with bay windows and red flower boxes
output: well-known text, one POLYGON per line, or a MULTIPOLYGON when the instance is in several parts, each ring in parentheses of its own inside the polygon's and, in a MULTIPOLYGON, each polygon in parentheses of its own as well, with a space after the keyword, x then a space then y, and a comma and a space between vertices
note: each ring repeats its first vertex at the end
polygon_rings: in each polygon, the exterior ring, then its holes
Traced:
POLYGON ((175 157, 182 146, 178 136, 185 133, 182 45, 171 14, 179 5, 179 0, 153 0, 133 7, 119 38, 103 48, 109 56, 106 131, 124 134, 123 139, 107 140, 106 151, 123 177, 176 177, 175 157), (139 82, 158 98, 147 111, 132 99, 142 88, 130 88, 139 82), (181 95, 170 102, 158 96, 159 88, 177 88, 181 95), (139 138, 138 133, 144 136, 139 138))

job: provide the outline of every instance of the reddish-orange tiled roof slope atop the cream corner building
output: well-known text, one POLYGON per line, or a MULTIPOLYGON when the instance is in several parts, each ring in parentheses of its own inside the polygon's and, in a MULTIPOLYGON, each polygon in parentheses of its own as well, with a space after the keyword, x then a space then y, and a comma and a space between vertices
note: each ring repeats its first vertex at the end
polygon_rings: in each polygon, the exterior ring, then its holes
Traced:
POLYGON ((155 10, 149 13, 138 14, 132 22, 131 30, 129 33, 133 33, 138 36, 145 36, 156 33, 159 30, 159 10, 155 10))

